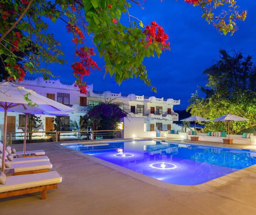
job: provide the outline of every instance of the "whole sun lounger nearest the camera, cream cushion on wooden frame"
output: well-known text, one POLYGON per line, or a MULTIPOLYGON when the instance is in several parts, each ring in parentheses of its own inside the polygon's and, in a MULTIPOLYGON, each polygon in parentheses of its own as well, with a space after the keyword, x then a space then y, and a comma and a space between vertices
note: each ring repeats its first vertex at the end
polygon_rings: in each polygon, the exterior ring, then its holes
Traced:
POLYGON ((57 189, 60 182, 62 177, 56 171, 6 177, 5 184, 0 184, 0 198, 42 192, 46 199, 47 191, 57 189))

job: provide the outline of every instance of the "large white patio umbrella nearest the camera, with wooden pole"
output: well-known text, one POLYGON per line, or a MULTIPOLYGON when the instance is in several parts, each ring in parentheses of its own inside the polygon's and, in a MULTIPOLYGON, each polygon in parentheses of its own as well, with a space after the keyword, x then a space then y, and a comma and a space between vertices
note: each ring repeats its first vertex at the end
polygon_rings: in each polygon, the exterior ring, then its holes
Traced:
MULTIPOLYGON (((10 82, 0 82, 0 110, 4 111, 4 134, 3 134, 3 151, 2 158, 5 158, 6 147, 6 128, 7 128, 7 112, 8 110, 14 112, 22 112, 27 114, 40 112, 52 112, 52 111, 74 111, 66 105, 60 104, 57 101, 48 99, 42 95, 35 93, 33 90, 25 89, 24 87, 16 86, 10 82), (24 98, 27 95, 29 101, 24 98), (32 103, 36 106, 28 105, 32 103)), ((27 121, 27 120, 26 120, 27 121)), ((25 128, 26 130, 26 128, 25 128)), ((26 131, 25 131, 26 133, 26 131)), ((5 170, 5 159, 2 159, 2 172, 5 170)))

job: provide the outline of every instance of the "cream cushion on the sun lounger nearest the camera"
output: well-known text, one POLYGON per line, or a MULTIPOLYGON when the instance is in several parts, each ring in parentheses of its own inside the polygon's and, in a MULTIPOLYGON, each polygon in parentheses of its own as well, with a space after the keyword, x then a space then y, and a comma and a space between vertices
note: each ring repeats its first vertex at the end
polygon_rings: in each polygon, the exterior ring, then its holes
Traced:
POLYGON ((60 182, 62 177, 56 171, 10 176, 6 178, 5 184, 0 184, 0 193, 60 182))

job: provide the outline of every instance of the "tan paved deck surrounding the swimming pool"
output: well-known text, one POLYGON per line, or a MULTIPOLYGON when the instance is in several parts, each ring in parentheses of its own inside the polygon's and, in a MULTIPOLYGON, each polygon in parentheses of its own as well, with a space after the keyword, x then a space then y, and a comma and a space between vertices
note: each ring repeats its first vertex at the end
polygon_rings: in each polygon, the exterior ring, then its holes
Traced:
MULTIPOLYGON (((212 142, 207 145, 223 146, 212 142)), ((23 145, 14 147, 22 150, 23 145)), ((224 147, 256 149, 238 144, 224 147)), ((174 191, 102 165, 98 159, 57 142, 29 143, 27 149, 44 149, 53 164, 52 170, 58 171, 63 181, 58 189, 48 191, 46 200, 41 200, 41 193, 0 199, 0 215, 256 214, 255 172, 212 191, 174 191)))

